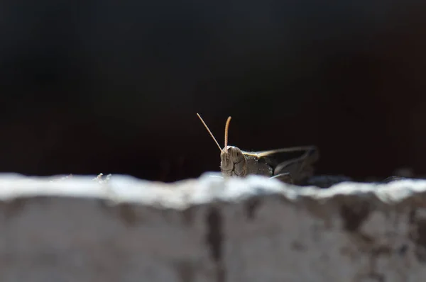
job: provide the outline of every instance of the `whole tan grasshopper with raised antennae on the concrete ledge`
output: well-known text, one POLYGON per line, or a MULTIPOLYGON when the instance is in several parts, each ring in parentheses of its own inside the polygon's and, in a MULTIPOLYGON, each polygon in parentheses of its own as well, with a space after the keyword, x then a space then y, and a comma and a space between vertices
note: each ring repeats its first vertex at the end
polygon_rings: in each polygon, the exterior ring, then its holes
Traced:
POLYGON ((289 147, 278 150, 246 152, 239 147, 228 146, 228 130, 231 117, 226 120, 225 145, 222 149, 216 138, 197 113, 204 127, 220 150, 222 175, 247 176, 259 174, 278 179, 288 184, 303 184, 313 174, 312 164, 319 159, 316 146, 289 147))

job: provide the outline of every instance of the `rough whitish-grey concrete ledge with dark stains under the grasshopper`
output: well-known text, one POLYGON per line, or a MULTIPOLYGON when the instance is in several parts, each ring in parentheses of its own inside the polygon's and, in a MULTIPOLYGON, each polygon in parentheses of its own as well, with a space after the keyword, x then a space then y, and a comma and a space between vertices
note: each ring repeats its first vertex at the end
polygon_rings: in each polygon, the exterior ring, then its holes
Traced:
POLYGON ((426 181, 0 176, 0 281, 426 281, 426 181))

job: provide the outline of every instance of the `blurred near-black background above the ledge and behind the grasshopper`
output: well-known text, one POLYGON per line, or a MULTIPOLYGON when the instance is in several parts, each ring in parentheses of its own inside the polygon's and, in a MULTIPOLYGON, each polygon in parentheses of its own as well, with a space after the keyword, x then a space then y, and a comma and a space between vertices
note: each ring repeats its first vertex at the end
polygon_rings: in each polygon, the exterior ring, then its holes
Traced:
POLYGON ((198 112, 319 174, 426 173, 425 1, 1 1, 0 36, 0 171, 218 171, 198 112))

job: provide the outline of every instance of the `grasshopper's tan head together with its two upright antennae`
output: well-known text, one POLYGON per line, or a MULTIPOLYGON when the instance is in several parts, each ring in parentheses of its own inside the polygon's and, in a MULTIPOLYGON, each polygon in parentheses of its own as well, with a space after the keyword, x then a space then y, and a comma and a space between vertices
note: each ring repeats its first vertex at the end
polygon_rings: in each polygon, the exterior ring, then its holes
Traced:
POLYGON ((225 146, 222 149, 217 142, 216 138, 214 138, 212 132, 207 127, 204 120, 202 120, 201 116, 197 113, 198 118, 200 118, 201 122, 204 124, 207 131, 212 136, 214 142, 216 142, 217 147, 220 150, 220 169, 224 176, 245 176, 247 174, 247 160, 244 156, 243 152, 234 146, 228 146, 228 128, 229 122, 231 121, 231 117, 226 120, 225 125, 225 146))

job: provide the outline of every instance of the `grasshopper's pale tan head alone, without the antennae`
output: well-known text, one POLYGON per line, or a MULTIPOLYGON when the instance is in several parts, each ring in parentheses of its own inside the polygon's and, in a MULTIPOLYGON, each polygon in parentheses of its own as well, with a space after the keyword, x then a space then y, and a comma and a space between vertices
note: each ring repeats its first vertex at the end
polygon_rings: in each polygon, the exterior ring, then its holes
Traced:
POLYGON ((224 176, 245 176, 247 161, 243 152, 234 146, 226 146, 220 153, 220 169, 224 176))

